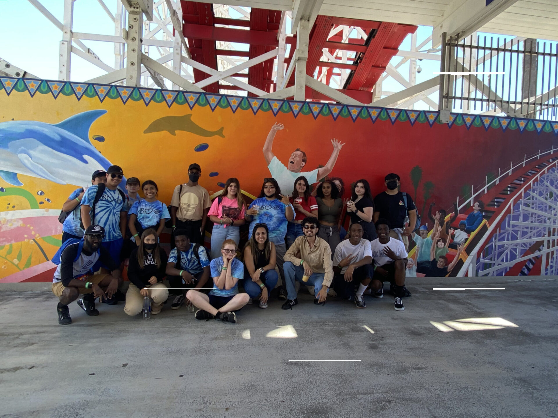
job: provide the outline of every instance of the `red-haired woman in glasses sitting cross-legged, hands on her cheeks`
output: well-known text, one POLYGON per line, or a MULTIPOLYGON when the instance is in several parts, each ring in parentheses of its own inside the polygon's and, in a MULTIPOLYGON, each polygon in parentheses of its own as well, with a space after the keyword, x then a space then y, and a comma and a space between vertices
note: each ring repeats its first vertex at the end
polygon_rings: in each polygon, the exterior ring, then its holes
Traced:
POLYGON ((211 277, 213 289, 209 295, 190 289, 186 293, 196 308, 196 319, 221 319, 235 323, 240 310, 248 303, 248 293, 238 293, 238 280, 244 277, 242 261, 236 258, 237 244, 233 240, 223 241, 222 257, 211 260, 211 277))

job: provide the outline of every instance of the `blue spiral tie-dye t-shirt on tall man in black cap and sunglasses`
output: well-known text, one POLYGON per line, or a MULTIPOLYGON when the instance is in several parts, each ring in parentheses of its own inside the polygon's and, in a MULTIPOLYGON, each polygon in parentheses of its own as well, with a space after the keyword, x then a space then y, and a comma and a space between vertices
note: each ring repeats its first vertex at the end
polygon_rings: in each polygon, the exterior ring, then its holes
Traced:
MULTIPOLYGON (((89 215, 93 212, 93 201, 99 186, 91 186, 85 192, 81 205, 91 206, 89 215)), ((105 229, 103 242, 114 241, 122 238, 120 232, 120 212, 126 212, 126 207, 122 196, 118 190, 110 190, 105 187, 99 201, 95 204, 95 225, 100 225, 105 229)))

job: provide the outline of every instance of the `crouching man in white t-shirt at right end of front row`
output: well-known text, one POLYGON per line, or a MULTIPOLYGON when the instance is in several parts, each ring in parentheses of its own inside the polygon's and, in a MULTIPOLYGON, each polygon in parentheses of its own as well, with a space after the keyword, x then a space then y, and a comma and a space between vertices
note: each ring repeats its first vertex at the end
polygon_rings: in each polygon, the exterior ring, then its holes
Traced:
POLYGON ((389 236, 389 221, 376 221, 377 239, 370 243, 374 259, 374 277, 372 290, 377 298, 383 297, 383 282, 389 281, 395 293, 395 310, 403 310, 402 298, 405 296, 405 269, 407 265, 407 251, 400 240, 389 236))

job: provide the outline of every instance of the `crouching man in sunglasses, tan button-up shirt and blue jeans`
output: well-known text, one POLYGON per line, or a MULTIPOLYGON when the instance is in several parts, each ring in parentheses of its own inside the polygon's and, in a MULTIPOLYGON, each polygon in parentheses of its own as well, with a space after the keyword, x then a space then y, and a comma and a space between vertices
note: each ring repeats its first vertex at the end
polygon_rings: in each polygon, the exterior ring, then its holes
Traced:
POLYGON ((325 304, 329 285, 333 280, 333 264, 331 249, 327 241, 316 236, 318 218, 308 216, 302 220, 304 236, 299 236, 285 253, 285 284, 287 286, 287 302, 281 309, 292 309, 299 300, 296 297, 295 281, 314 286, 316 298, 314 303, 325 304))

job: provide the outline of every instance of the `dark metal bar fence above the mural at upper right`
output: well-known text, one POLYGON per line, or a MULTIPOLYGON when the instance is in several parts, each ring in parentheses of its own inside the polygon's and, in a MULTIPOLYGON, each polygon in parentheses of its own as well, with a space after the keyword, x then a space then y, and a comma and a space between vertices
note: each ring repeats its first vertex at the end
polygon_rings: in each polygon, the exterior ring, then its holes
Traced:
POLYGON ((442 34, 440 110, 558 120, 558 44, 442 34), (496 43, 496 45, 494 45, 496 43), (471 72, 480 74, 470 74, 471 72), (499 74, 483 74, 497 72, 499 74))

